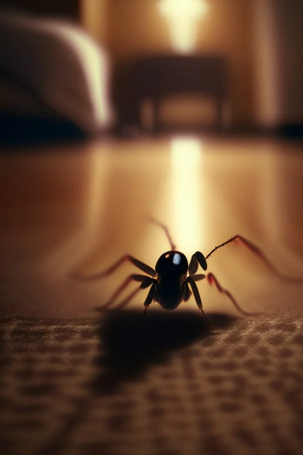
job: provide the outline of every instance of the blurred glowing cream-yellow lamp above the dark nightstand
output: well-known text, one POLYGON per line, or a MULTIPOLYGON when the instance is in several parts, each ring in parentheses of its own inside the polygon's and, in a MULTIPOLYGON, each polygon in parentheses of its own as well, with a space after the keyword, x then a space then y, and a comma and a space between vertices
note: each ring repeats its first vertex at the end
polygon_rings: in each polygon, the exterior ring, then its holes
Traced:
POLYGON ((205 0, 161 0, 159 11, 169 24, 172 46, 179 52, 189 52, 195 46, 199 19, 208 9, 205 0))

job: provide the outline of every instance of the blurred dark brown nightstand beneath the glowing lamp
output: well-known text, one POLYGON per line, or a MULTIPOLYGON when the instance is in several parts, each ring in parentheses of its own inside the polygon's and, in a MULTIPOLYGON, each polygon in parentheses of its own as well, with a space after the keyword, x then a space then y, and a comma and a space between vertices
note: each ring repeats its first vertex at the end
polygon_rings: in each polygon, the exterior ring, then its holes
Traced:
POLYGON ((210 96, 216 105, 215 128, 223 127, 223 106, 227 98, 227 65, 215 55, 158 55, 139 58, 133 65, 133 118, 143 127, 140 108, 149 100, 153 107, 153 131, 160 129, 159 104, 167 95, 210 96))

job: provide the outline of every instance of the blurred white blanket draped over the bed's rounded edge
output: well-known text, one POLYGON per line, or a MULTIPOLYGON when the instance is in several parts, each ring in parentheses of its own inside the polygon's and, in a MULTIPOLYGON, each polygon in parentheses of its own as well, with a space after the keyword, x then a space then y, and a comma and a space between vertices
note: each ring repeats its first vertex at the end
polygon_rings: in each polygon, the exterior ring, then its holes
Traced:
MULTIPOLYGON (((71 121, 87 134, 113 122, 108 54, 74 23, 0 11, 1 70, 49 114, 71 121)), ((4 98, 0 97, 0 110, 4 98)), ((11 99, 17 109, 16 97, 11 99)))

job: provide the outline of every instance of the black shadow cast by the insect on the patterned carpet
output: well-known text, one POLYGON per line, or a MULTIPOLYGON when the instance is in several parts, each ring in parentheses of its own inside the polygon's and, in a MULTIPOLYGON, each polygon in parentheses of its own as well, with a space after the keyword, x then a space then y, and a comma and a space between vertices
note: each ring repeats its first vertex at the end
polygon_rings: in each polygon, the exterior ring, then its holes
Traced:
MULTIPOLYGON (((212 314, 218 329, 233 323, 234 317, 212 314)), ((143 318, 138 310, 109 311, 100 321, 99 370, 94 392, 110 394, 123 383, 139 380, 154 364, 164 364, 169 356, 197 340, 209 345, 216 332, 210 330, 194 311, 153 310, 143 318)))

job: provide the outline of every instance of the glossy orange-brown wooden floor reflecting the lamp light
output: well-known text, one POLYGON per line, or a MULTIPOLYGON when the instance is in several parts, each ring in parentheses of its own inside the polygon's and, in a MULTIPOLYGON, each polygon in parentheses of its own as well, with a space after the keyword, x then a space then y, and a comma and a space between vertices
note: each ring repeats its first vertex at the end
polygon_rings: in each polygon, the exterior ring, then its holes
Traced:
MULTIPOLYGON (((148 216, 188 258, 241 233, 281 272, 303 277, 302 152, 302 143, 197 136, 2 150, 0 305, 22 315, 94 314, 134 269, 98 282, 70 273, 95 273, 127 252, 154 267, 169 243, 148 216)), ((208 264, 247 310, 301 304, 302 284, 278 279, 242 245, 208 264)), ((206 283, 199 288, 207 312, 234 311, 206 283)), ((145 295, 129 307, 142 308, 145 295)))

